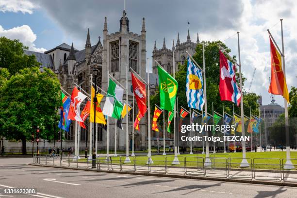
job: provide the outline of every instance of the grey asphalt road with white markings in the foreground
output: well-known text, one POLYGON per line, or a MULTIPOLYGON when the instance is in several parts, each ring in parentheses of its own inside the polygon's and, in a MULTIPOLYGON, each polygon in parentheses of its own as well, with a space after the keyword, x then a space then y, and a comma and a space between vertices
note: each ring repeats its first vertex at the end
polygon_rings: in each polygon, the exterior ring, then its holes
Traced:
MULTIPOLYGON (((297 188, 149 177, 27 165, 31 158, 0 158, 0 189, 35 188, 15 198, 296 198, 297 188)), ((0 198, 7 196, 0 195, 0 198)))

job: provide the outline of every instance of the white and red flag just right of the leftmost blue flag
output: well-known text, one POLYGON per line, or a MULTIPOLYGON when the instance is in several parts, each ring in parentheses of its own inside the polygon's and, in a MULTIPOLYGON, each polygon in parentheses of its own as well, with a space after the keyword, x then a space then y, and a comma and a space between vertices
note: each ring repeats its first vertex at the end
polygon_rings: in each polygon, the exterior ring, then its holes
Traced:
POLYGON ((80 115, 80 106, 82 101, 87 96, 80 92, 76 87, 74 87, 71 94, 71 102, 69 108, 68 119, 76 120, 78 122, 83 122, 82 117, 80 115))

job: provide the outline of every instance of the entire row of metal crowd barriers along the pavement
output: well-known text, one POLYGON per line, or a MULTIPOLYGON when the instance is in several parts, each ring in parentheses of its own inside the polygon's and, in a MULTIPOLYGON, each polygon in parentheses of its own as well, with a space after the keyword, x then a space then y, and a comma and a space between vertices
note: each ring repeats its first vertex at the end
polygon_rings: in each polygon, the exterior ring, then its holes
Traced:
MULTIPOLYGON (((218 155, 218 154, 215 154, 218 155)), ((215 156, 211 155, 211 156, 215 156)), ((226 155, 228 157, 228 154, 226 155)), ((255 180, 297 181, 297 159, 290 159, 292 164, 286 165, 289 159, 276 158, 225 158, 225 157, 184 157, 178 156, 179 163, 173 163, 174 156, 97 156, 98 170, 116 170, 132 172, 150 172, 161 174, 186 174, 203 177, 224 177, 255 180), (247 163, 242 165, 242 160, 247 163)), ((66 166, 75 168, 93 168, 92 156, 33 154, 33 164, 66 166)))

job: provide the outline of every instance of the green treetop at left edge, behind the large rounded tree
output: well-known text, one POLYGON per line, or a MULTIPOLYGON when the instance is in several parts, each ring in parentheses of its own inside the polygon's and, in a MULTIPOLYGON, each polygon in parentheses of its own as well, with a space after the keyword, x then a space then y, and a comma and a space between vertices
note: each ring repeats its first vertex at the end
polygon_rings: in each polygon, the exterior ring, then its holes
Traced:
POLYGON ((19 40, 0 37, 0 67, 7 68, 11 75, 23 68, 40 66, 35 56, 28 56, 24 50, 29 49, 19 40))

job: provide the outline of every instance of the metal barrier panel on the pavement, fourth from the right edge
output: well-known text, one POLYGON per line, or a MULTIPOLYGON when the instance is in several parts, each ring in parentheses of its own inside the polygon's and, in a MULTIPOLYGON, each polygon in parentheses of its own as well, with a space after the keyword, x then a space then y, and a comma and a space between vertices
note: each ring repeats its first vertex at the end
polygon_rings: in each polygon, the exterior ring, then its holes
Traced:
POLYGON ((206 157, 205 175, 208 177, 228 177, 227 158, 224 157, 206 157))

